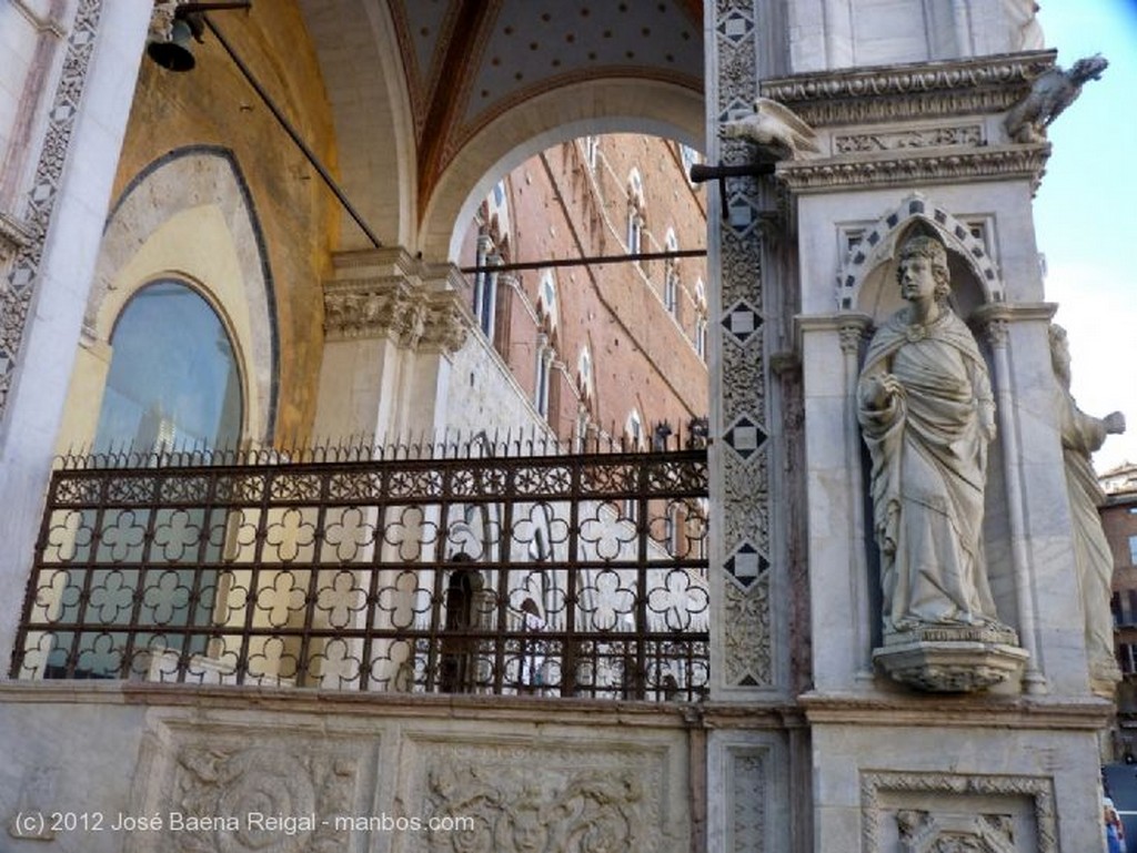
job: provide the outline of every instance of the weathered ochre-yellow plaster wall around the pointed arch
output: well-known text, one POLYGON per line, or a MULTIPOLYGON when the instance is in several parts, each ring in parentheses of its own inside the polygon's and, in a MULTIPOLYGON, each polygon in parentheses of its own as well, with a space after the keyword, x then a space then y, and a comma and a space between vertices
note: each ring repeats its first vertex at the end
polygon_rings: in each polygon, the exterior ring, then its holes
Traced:
MULTIPOLYGON (((323 80, 293 2, 272 14, 215 12, 211 18, 301 139, 335 170, 335 142, 323 80)), ((115 199, 139 173, 184 147, 233 151, 264 232, 280 331, 277 436, 310 430, 323 348, 321 282, 337 244, 335 200, 299 149, 241 77, 209 32, 194 44, 197 67, 174 74, 142 65, 115 199)), ((181 235, 193 240, 192 234, 181 235)))

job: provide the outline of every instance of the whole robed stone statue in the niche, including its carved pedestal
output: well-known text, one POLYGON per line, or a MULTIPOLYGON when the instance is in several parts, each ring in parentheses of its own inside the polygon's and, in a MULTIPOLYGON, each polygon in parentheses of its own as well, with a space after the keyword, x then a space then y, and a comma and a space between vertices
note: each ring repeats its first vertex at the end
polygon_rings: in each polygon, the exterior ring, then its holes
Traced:
MULTIPOLYGON (((922 689, 969 691, 1009 671, 986 654, 960 659, 951 644, 1018 641, 995 613, 982 547, 995 400, 976 338, 947 302, 949 275, 936 236, 905 240, 897 284, 908 307, 869 345, 857 417, 872 466, 886 651, 915 644, 914 657, 875 657, 922 689)), ((1013 650, 1011 669, 1021 655, 1013 650)))

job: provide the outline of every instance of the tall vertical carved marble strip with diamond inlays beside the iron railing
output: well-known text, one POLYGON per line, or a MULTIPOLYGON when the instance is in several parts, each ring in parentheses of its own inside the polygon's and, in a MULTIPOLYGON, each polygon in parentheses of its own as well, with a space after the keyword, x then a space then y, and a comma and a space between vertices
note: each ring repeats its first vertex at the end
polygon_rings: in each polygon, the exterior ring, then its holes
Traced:
MULTIPOLYGON (((722 127, 749 115, 757 95, 758 28, 754 3, 717 0, 714 60, 708 99, 713 124, 722 127)), ((711 159, 738 165, 753 152, 741 140, 712 143, 711 159), (719 147, 715 153, 715 144, 719 147)), ((720 199, 719 318, 721 442, 716 463, 722 513, 719 569, 723 595, 719 660, 723 687, 770 687, 775 680, 772 647, 770 537, 770 427, 765 317, 761 269, 763 209, 755 178, 731 178, 720 199)), ((713 393, 714 393, 713 391, 713 393)))

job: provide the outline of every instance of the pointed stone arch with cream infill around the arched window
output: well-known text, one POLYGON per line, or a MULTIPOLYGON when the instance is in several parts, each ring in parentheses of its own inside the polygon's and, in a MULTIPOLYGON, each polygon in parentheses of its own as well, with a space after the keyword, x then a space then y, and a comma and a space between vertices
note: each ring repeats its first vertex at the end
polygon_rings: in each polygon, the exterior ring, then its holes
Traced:
MULTIPOLYGON (((252 198, 227 149, 172 151, 123 191, 103 229, 84 312, 85 345, 109 348, 130 299, 164 277, 190 283, 217 312, 241 373, 242 435, 269 443, 279 376, 273 277, 252 198)), ((74 386, 73 394, 82 391, 74 386)), ((101 388, 88 393, 101 398, 101 388)))

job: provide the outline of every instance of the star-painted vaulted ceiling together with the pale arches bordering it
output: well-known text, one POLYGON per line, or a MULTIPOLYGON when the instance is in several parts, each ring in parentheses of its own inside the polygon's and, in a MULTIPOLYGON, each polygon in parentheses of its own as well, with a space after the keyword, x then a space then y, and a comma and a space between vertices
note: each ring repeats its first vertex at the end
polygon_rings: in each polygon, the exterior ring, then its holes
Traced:
POLYGON ((414 234, 400 220, 400 242, 445 251, 474 184, 526 144, 553 144, 558 128, 578 135, 595 122, 594 132, 670 129, 699 142, 702 0, 298 2, 352 196, 368 194, 367 208, 384 195, 388 209, 373 216, 390 221, 391 192, 413 185, 398 215, 413 217, 414 234), (380 174, 384 157, 398 161, 397 179, 380 174))

